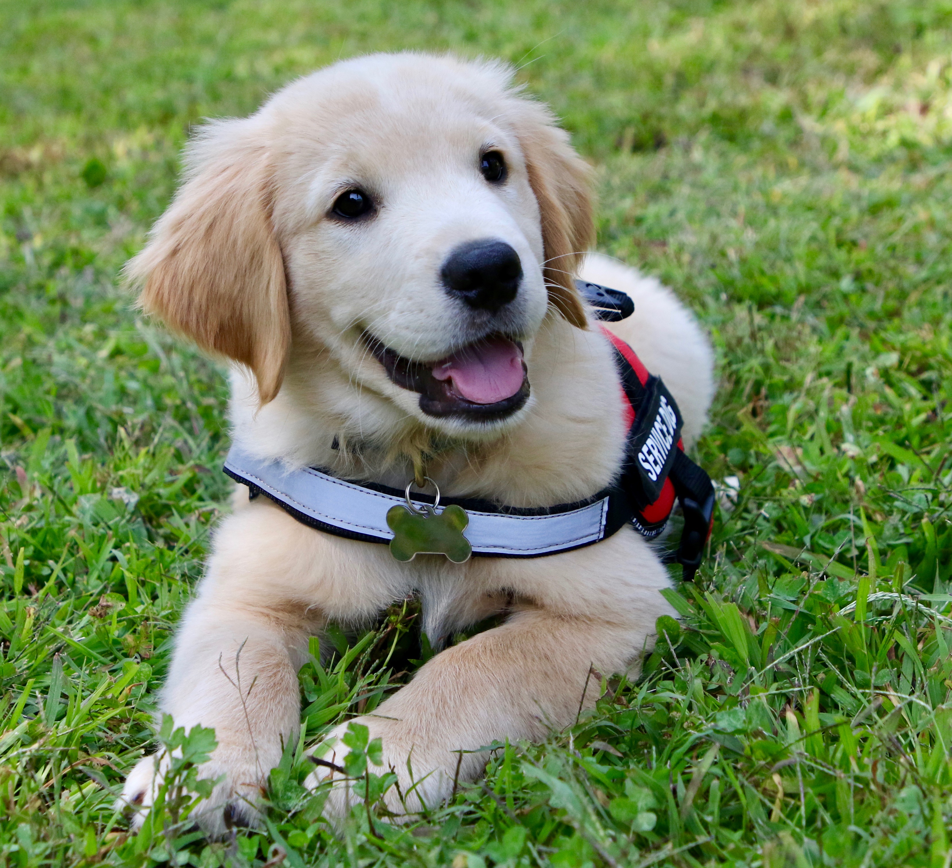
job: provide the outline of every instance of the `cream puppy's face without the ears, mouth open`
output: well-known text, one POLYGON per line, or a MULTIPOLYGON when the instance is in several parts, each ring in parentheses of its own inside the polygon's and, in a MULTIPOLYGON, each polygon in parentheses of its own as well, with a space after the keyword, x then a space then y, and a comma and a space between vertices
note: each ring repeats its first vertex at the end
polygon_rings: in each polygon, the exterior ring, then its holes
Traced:
POLYGON ((399 89, 346 77, 303 115, 284 94, 276 124, 296 141, 274 221, 302 332, 428 423, 486 424, 530 392, 523 352, 548 306, 539 207, 492 103, 428 71, 399 89))

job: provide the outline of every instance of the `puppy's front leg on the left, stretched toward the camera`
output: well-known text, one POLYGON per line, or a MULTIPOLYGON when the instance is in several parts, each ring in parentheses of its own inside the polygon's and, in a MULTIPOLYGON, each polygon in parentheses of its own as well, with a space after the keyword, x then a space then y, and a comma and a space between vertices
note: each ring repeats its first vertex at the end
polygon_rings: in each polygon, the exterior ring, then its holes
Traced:
MULTIPOLYGON (((315 533, 264 499, 246 503, 218 529, 159 700, 176 727, 214 727, 218 748, 200 769, 203 777, 224 776, 199 806, 210 834, 224 830, 226 807, 231 819, 255 819, 260 787, 296 738, 296 673, 307 660, 308 638, 327 617, 367 618, 406 593, 399 580, 389 582, 386 549, 365 558, 366 569, 355 579, 354 546, 360 544, 315 533)), ((164 770, 156 755, 129 775, 123 799, 138 810, 136 823, 155 799, 164 770)))

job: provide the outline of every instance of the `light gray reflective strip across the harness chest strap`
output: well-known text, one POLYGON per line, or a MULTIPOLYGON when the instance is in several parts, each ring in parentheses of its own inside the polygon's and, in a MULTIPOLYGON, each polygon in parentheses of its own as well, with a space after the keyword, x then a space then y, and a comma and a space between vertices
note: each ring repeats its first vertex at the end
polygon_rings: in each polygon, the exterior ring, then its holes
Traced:
MULTIPOLYGON (((251 458, 232 447, 225 466, 275 500, 332 527, 390 540, 387 510, 404 499, 346 483, 305 467, 288 470, 280 462, 251 458)), ((415 502, 422 503, 422 502, 415 502)), ((598 542, 605 535, 608 499, 556 515, 522 516, 466 510, 466 539, 487 555, 544 555, 598 542)))

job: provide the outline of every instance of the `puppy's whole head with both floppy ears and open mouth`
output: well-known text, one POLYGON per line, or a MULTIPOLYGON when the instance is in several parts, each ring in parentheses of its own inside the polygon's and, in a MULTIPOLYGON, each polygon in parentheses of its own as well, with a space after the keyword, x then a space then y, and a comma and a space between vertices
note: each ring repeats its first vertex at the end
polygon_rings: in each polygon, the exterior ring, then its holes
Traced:
POLYGON ((262 404, 316 351, 362 394, 481 436, 525 412, 545 316, 585 327, 587 177, 505 67, 372 55, 204 128, 128 271, 262 404))

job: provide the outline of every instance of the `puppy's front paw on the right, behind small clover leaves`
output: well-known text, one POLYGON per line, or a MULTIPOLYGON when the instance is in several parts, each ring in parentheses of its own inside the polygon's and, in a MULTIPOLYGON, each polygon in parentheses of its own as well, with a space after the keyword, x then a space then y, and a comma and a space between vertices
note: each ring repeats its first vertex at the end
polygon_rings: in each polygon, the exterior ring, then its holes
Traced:
POLYGON ((443 761, 438 761, 431 752, 409 737, 401 721, 367 715, 335 727, 324 740, 308 751, 315 768, 307 776, 305 786, 314 790, 321 784, 330 783, 324 806, 327 818, 347 817, 351 807, 363 801, 353 790, 359 778, 348 777, 345 769, 347 757, 353 750, 345 743, 347 728, 351 724, 367 727, 368 744, 376 739, 382 742, 380 757, 374 757, 373 751, 367 752, 371 760, 381 760, 379 764, 368 761, 368 770, 375 775, 386 775, 388 772, 396 775, 396 782, 383 796, 387 811, 398 817, 416 814, 449 798, 453 791, 456 755, 446 753, 441 758, 443 761))

